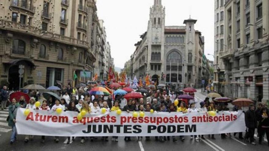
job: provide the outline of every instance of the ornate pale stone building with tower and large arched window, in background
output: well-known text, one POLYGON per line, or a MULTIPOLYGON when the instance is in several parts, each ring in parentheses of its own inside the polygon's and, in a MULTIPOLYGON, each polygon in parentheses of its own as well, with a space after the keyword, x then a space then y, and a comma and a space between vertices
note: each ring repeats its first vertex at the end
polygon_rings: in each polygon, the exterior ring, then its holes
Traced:
POLYGON ((165 26, 161 0, 154 0, 149 16, 148 29, 131 56, 132 77, 149 74, 157 83, 200 87, 204 38, 194 28, 197 20, 184 20, 185 26, 165 26))

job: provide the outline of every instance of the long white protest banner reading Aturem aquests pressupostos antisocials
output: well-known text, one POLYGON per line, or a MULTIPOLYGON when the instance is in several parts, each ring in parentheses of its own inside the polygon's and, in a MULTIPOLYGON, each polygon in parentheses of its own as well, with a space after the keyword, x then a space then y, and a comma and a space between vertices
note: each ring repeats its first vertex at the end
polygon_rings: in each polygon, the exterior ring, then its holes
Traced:
POLYGON ((205 135, 245 131, 245 115, 241 111, 220 111, 216 116, 207 112, 133 112, 87 113, 77 120, 77 112, 31 110, 24 115, 17 111, 18 134, 46 136, 177 136, 205 135))

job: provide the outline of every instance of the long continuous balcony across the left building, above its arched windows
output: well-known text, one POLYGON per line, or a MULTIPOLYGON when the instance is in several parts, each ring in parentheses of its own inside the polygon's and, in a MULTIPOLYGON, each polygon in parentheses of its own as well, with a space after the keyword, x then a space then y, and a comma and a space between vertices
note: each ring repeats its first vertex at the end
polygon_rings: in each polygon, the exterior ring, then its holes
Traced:
POLYGON ((42 29, 29 26, 29 25, 23 25, 21 23, 16 23, 16 22, 7 21, 7 20, 0 20, 0 28, 8 30, 8 31, 30 34, 30 35, 37 36, 39 38, 44 38, 51 41, 57 41, 57 42, 65 43, 68 45, 75 45, 78 47, 89 49, 89 43, 87 41, 66 37, 60 34, 54 34, 49 31, 43 31, 42 29))

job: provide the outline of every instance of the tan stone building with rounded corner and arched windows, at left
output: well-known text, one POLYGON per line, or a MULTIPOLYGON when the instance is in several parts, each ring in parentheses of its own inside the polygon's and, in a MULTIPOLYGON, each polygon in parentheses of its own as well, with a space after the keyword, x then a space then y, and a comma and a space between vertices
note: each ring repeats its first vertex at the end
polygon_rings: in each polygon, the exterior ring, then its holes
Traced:
POLYGON ((97 67, 95 0, 10 0, 0 9, 1 83, 49 87, 73 81, 75 71, 93 73, 97 67))

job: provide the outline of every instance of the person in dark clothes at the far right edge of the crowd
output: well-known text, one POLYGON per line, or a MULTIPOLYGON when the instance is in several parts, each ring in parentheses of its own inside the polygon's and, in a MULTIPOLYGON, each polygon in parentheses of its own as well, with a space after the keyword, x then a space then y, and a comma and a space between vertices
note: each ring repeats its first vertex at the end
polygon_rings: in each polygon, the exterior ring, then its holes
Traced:
POLYGON ((259 133, 259 144, 262 143, 263 135, 266 134, 267 137, 267 143, 269 146, 269 118, 268 118, 269 112, 267 107, 263 107, 261 109, 260 114, 258 115, 259 125, 260 125, 260 131, 259 133))

